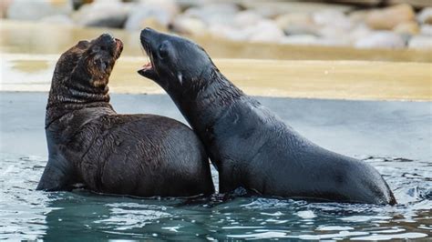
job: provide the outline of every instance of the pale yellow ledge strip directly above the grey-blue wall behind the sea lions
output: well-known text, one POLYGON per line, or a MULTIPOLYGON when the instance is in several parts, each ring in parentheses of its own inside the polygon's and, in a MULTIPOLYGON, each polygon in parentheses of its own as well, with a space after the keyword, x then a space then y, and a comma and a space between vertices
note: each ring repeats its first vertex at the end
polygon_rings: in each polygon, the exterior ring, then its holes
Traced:
MULTIPOLYGON (((0 91, 49 91, 57 55, 2 55, 0 91)), ((117 94, 165 94, 137 70, 147 58, 122 56, 109 78, 117 94)), ((432 100, 432 64, 371 61, 213 59, 253 96, 350 100, 432 100)))

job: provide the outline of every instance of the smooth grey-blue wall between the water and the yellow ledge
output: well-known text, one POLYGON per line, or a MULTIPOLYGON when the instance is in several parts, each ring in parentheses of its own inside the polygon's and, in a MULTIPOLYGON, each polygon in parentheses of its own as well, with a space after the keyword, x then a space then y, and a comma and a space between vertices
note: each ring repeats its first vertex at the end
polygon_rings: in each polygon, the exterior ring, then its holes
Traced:
MULTIPOLYGON (((47 93, 0 92, 0 153, 46 156, 47 93)), ((348 156, 432 160, 432 103, 257 97, 303 136, 348 156)), ((112 95, 118 113, 185 122, 166 95, 112 95)))

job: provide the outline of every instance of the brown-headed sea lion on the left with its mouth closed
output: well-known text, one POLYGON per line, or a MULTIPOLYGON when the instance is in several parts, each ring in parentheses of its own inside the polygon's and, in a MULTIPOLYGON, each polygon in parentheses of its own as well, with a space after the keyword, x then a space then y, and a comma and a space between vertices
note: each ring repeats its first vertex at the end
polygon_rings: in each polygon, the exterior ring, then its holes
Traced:
POLYGON ((122 48, 104 34, 61 55, 46 106, 48 163, 37 189, 81 183, 138 197, 213 193, 208 156, 188 126, 164 116, 118 115, 109 105, 108 77, 122 48))

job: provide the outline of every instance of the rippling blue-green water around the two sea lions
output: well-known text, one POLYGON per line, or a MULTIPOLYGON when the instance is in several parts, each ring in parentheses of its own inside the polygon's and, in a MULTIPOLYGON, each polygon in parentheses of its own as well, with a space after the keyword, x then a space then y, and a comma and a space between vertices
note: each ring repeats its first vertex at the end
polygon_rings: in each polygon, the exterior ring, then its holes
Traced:
POLYGON ((432 164, 402 158, 365 157, 365 161, 385 176, 399 205, 262 197, 189 203, 86 190, 47 193, 35 190, 46 157, 1 154, 0 240, 430 238, 432 164))

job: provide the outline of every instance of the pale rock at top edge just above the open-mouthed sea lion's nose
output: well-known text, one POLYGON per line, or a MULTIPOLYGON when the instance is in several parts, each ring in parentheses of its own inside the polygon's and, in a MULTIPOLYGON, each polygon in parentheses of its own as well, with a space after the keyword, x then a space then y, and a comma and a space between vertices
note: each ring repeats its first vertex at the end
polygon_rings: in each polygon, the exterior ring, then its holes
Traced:
POLYGON ((159 30, 166 29, 179 12, 179 6, 172 0, 141 1, 129 14, 125 28, 139 30, 146 26, 146 22, 152 21, 154 25, 159 25, 159 30))

